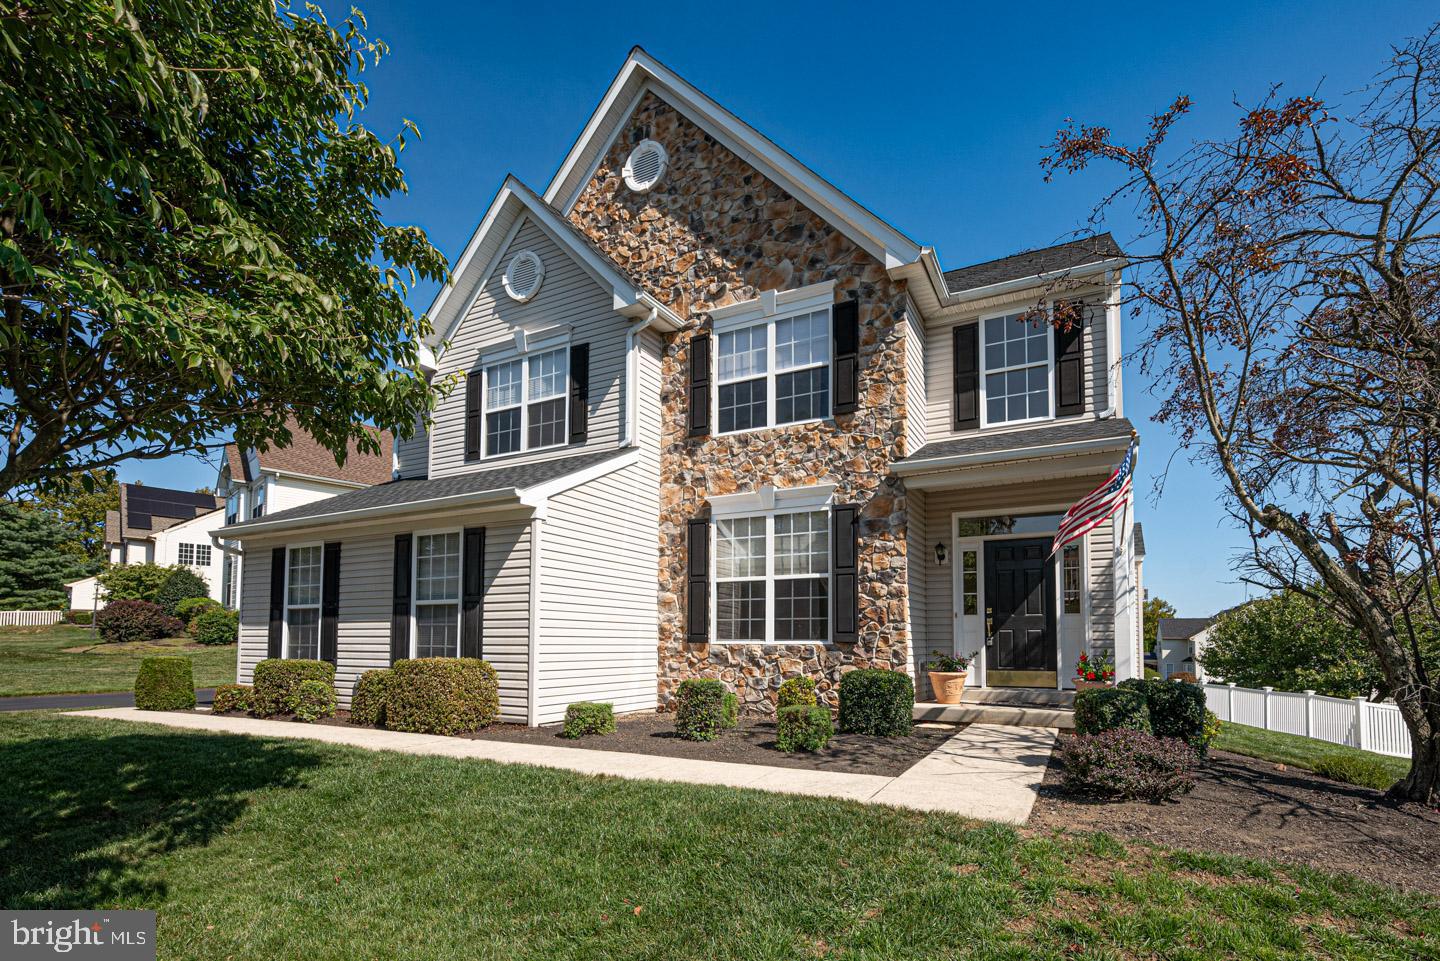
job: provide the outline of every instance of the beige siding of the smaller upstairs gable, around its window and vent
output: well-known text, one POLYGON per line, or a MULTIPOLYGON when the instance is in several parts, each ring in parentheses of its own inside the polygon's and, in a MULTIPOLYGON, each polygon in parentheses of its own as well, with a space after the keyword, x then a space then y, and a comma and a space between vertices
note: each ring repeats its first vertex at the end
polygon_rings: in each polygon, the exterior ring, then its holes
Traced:
POLYGON ((625 330, 615 313, 613 294, 602 288, 534 220, 524 218, 495 262, 495 268, 439 359, 436 383, 456 377, 455 389, 438 402, 432 415, 429 475, 445 477, 516 464, 569 457, 580 450, 619 442, 621 385, 625 370, 625 330), (520 251, 534 251, 544 264, 544 281, 533 300, 518 304, 505 294, 503 277, 520 251), (485 354, 514 350, 516 328, 541 330, 569 326, 570 344, 590 346, 589 435, 583 445, 524 451, 494 460, 465 461, 465 375, 485 363, 485 354))

